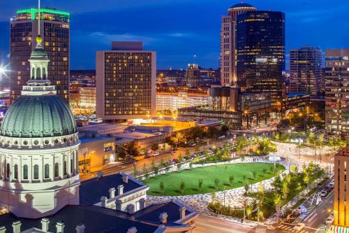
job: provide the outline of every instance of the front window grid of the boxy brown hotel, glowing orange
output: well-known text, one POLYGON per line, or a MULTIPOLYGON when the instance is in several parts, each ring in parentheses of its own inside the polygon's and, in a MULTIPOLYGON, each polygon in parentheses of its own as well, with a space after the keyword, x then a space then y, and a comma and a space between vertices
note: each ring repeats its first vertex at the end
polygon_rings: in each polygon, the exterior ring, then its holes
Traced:
POLYGON ((151 52, 105 53, 105 115, 151 113, 151 52))

